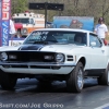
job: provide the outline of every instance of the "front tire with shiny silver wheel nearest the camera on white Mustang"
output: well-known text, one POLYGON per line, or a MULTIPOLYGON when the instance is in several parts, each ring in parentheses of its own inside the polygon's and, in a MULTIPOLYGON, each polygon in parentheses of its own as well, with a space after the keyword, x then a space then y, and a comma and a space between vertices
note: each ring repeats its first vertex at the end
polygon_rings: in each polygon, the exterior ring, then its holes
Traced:
POLYGON ((74 70, 68 75, 66 88, 70 93, 81 93, 84 86, 83 64, 78 62, 74 70))

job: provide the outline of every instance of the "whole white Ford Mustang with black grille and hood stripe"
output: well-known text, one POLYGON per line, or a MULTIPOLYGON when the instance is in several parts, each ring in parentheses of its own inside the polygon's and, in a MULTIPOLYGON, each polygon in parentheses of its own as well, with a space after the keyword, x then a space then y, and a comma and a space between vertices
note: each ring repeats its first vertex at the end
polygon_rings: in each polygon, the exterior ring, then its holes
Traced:
POLYGON ((20 47, 0 48, 0 84, 15 86, 17 78, 66 81, 69 92, 80 93, 85 77, 109 85, 109 47, 93 32, 70 28, 34 31, 20 47))

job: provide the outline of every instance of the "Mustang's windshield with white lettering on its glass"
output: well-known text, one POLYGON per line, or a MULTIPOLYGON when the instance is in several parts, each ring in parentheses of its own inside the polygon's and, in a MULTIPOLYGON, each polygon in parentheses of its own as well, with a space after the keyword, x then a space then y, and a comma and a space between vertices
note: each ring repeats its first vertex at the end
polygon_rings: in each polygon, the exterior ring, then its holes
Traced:
POLYGON ((24 44, 40 43, 75 44, 86 46, 86 33, 63 32, 63 31, 35 31, 24 41, 24 44))

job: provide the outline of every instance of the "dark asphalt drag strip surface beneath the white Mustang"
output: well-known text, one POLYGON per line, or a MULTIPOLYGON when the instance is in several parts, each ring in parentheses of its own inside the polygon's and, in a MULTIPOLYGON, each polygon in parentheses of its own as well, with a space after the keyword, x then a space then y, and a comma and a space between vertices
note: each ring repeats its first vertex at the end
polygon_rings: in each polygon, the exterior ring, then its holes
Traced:
POLYGON ((19 80, 13 90, 0 86, 1 109, 109 109, 109 86, 85 80, 82 93, 68 93, 65 82, 52 84, 19 80))

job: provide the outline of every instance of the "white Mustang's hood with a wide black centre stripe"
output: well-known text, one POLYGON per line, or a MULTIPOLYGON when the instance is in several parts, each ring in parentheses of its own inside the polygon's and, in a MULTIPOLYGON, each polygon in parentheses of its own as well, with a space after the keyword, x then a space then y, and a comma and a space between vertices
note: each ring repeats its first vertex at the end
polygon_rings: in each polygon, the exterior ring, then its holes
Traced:
POLYGON ((0 51, 9 51, 9 50, 36 50, 36 51, 57 51, 64 52, 70 51, 72 49, 82 48, 82 46, 76 45, 22 45, 22 46, 2 46, 0 47, 0 51))

